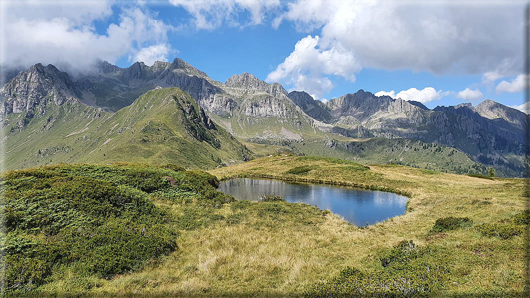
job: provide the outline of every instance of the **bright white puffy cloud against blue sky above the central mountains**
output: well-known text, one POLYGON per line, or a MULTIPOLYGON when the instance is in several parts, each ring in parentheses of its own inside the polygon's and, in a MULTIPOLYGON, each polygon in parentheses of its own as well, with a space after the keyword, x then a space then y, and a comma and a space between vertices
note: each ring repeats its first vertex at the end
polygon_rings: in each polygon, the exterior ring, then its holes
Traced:
POLYGON ((360 71, 354 53, 334 44, 321 45, 319 36, 307 36, 299 40, 295 49, 269 73, 267 81, 293 84, 294 90, 304 90, 322 98, 333 84, 327 75, 342 76, 355 82, 355 73, 360 71))

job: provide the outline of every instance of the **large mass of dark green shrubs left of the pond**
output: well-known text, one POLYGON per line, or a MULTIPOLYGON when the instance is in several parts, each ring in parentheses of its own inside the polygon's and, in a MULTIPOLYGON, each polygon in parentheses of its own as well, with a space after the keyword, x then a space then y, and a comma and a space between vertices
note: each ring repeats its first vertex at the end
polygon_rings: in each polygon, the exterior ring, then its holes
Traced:
MULTIPOLYGON (((214 176, 174 164, 68 165, 10 171, 0 181, 0 253, 7 293, 32 291, 54 268, 110 278, 176 249, 176 231, 224 220, 234 201, 214 176), (169 216, 152 199, 183 204, 169 216)), ((240 220, 234 217, 232 221, 240 220)))

